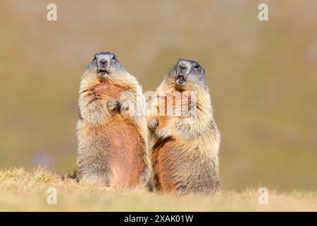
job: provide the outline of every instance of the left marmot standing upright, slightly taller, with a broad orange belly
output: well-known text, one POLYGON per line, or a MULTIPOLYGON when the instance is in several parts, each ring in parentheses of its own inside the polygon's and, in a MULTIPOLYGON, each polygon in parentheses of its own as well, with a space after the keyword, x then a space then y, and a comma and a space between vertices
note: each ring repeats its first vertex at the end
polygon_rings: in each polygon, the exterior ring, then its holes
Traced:
POLYGON ((147 184, 151 164, 144 106, 141 86, 116 55, 95 54, 80 82, 79 179, 118 188, 147 184))

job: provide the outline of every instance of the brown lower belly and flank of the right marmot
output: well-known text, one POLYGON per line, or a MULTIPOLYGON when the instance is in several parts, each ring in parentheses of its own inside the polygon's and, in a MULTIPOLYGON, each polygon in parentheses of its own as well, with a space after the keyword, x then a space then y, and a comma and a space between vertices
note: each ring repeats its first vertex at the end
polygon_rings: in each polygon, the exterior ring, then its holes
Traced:
MULTIPOLYGON (((158 190, 200 192, 213 188, 213 162, 195 147, 167 141, 152 153, 158 190)), ((155 178, 154 178, 155 179, 155 178)))

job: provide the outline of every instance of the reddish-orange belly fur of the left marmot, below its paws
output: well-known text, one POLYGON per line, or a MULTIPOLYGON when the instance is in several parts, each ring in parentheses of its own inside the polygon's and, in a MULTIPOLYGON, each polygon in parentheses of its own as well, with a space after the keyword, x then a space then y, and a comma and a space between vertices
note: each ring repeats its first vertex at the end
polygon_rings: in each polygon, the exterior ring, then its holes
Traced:
POLYGON ((137 128, 122 116, 104 128, 107 142, 109 181, 112 186, 137 186, 144 170, 146 146, 137 128))

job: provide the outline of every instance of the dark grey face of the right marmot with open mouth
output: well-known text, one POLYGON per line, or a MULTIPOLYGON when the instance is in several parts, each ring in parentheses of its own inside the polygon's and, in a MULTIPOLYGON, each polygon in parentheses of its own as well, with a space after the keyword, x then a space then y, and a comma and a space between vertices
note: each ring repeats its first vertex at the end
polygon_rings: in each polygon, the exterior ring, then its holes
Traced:
POLYGON ((175 79, 177 90, 191 90, 197 85, 207 87, 205 70, 196 61, 179 59, 168 76, 175 79))

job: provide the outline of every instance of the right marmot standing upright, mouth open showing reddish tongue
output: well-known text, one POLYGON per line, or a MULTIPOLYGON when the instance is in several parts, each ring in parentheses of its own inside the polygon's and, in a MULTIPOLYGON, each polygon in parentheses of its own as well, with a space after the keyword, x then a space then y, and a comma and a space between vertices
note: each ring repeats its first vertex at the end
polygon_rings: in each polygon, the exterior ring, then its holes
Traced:
POLYGON ((220 191, 220 132, 213 119, 204 69, 196 61, 179 59, 163 78, 156 97, 148 117, 153 138, 154 191, 173 194, 220 191), (176 100, 180 105, 176 105, 176 100), (168 105, 173 109, 172 115, 166 115, 168 105), (182 107, 178 115, 177 106, 182 107))

